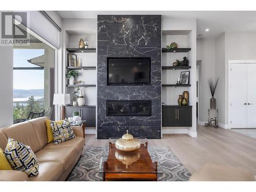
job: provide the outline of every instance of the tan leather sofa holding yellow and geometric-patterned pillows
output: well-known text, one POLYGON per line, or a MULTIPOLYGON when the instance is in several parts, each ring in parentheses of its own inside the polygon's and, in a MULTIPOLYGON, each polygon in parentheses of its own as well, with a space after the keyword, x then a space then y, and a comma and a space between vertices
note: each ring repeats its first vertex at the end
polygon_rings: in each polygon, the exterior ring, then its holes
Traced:
POLYGON ((60 144, 47 143, 46 117, 32 119, 0 129, 0 147, 8 137, 29 145, 39 161, 39 173, 28 177, 17 170, 0 170, 0 181, 65 181, 82 154, 85 143, 82 127, 73 126, 76 137, 60 144))

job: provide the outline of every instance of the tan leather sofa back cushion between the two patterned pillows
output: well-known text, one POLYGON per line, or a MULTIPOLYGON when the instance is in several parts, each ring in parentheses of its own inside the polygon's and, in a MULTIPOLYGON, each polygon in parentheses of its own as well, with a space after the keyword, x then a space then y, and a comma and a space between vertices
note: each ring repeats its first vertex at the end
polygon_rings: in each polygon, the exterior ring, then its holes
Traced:
POLYGON ((35 129, 30 122, 22 122, 5 127, 1 130, 9 138, 31 147, 35 153, 41 149, 35 129))

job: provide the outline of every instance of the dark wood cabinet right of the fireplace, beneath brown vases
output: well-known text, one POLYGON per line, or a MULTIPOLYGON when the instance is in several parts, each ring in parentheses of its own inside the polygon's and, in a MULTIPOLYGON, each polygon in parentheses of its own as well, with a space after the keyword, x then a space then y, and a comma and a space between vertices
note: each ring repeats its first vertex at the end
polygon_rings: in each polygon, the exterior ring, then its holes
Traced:
POLYGON ((163 105, 162 126, 192 126, 192 106, 163 105))

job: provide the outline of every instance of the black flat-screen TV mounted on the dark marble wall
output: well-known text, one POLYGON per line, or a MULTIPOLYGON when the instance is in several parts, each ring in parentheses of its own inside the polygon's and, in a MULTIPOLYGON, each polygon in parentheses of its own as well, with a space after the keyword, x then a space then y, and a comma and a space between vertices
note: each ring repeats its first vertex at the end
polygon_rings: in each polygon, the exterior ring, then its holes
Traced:
POLYGON ((150 67, 150 57, 108 57, 108 85, 148 85, 150 67))

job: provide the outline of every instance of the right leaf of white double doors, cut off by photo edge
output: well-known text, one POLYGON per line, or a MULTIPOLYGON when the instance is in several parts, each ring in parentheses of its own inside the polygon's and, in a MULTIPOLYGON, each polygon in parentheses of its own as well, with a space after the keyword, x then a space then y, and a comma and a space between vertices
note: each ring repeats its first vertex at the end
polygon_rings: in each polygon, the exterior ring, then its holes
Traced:
POLYGON ((247 64, 247 127, 256 128, 256 63, 247 64))

